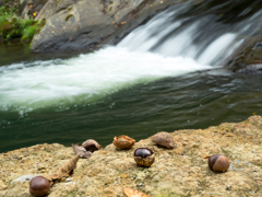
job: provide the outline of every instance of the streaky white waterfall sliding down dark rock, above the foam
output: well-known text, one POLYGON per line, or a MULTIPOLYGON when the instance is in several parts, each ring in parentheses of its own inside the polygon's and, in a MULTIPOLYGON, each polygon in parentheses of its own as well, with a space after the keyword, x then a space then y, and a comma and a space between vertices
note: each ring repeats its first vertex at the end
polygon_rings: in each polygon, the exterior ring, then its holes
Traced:
MULTIPOLYGON (((225 21, 225 7, 230 8, 237 2, 221 1, 210 8, 212 3, 207 0, 195 8, 189 1, 171 7, 130 33, 118 46, 164 57, 192 58, 201 65, 222 66, 247 38, 261 31, 258 24, 261 24, 262 11, 239 21, 230 21, 229 16, 225 21), (206 7, 210 9, 204 9, 206 7), (198 14, 193 14, 195 10, 199 10, 198 14)), ((245 10, 235 18, 248 14, 257 5, 250 4, 245 4, 245 10)))

